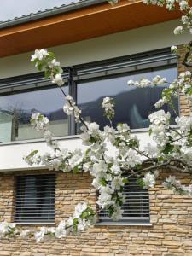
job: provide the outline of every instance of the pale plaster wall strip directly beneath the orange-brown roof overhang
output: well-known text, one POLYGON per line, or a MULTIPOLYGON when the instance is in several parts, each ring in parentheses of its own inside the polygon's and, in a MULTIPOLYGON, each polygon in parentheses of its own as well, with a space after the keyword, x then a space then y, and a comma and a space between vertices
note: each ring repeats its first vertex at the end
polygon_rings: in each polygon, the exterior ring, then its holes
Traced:
MULTIPOLYGON (((152 49, 161 49, 172 44, 183 44, 191 35, 174 36, 173 29, 178 20, 153 26, 145 26, 99 38, 51 48, 63 67, 90 61, 99 61, 122 55, 131 55, 152 49)), ((30 64, 32 52, 0 59, 0 79, 20 74, 37 72, 30 64)))

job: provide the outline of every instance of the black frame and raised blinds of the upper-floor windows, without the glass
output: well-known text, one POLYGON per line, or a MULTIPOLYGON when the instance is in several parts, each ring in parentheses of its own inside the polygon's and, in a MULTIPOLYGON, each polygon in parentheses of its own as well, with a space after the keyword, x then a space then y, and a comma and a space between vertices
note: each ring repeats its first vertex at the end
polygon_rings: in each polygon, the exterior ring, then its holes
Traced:
MULTIPOLYGON (((79 83, 141 73, 143 71, 154 71, 162 69, 162 67, 177 67, 177 55, 171 53, 169 48, 125 55, 104 61, 94 61, 73 67, 65 67, 62 76, 64 81, 67 82, 69 94, 77 102, 77 88, 79 83)), ((1 79, 0 96, 22 91, 41 90, 41 88, 45 87, 48 89, 53 88, 53 86, 56 85, 51 84, 49 79, 44 79, 44 73, 32 73, 9 79, 1 79)), ((178 111, 180 112, 179 103, 178 111)), ((145 128, 138 128, 138 130, 143 129, 145 128)), ((68 116, 68 135, 77 134, 77 125, 75 124, 74 116, 68 116)), ((17 142, 20 143, 20 141, 17 142)))

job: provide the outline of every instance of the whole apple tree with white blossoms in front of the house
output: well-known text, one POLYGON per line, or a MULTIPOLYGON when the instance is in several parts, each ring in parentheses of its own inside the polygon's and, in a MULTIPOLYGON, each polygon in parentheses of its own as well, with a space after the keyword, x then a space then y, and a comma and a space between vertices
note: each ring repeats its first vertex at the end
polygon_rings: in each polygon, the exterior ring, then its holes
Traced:
MULTIPOLYGON (((118 3, 117 0, 108 0, 109 3, 118 3)), ((183 26, 177 26, 174 33, 180 34, 189 30, 192 34, 192 7, 187 1, 174 0, 144 0, 144 3, 152 3, 160 6, 166 5, 169 10, 179 9, 183 16, 183 26)), ((186 45, 187 54, 183 64, 192 67, 192 44, 186 45)), ((177 53, 177 47, 172 46, 172 52, 177 53)), ((61 172, 90 172, 93 177, 92 185, 99 192, 98 211, 105 209, 110 218, 118 220, 122 217, 121 206, 125 201, 123 187, 129 182, 130 177, 137 177, 137 183, 143 188, 154 187, 156 178, 162 169, 170 172, 163 182, 166 189, 172 189, 178 194, 191 195, 192 185, 185 186, 174 176, 176 172, 192 172, 192 116, 177 117, 177 127, 170 126, 171 114, 164 110, 157 110, 149 115, 149 136, 152 143, 144 148, 140 141, 132 135, 127 124, 119 124, 113 127, 114 102, 110 97, 103 99, 102 108, 108 119, 108 125, 100 130, 95 122, 88 123, 81 117, 81 110, 73 101, 72 96, 67 96, 62 90, 64 84, 60 63, 55 60, 55 55, 46 49, 36 50, 31 59, 39 71, 44 71, 46 78, 57 84, 61 93, 65 96, 67 103, 63 111, 67 115, 74 115, 75 121, 81 124, 80 135, 86 150, 75 149, 69 151, 60 147, 49 131, 49 119, 41 113, 33 113, 31 124, 37 130, 44 133, 44 139, 50 153, 39 154, 33 150, 25 156, 26 162, 32 165, 44 165, 49 170, 61 172), (108 146, 113 148, 113 153, 108 146)), ((162 92, 162 98, 156 102, 155 108, 161 108, 169 104, 173 108, 172 100, 179 94, 183 94, 192 101, 192 73, 189 71, 180 73, 178 78, 169 83, 166 78, 159 75, 151 81, 141 79, 140 81, 128 81, 129 86, 148 87, 167 84, 162 92)), ((174 110, 174 109, 173 109, 174 110)), ((45 235, 57 238, 65 237, 69 233, 85 230, 95 221, 96 213, 89 205, 79 203, 75 207, 73 216, 61 221, 57 227, 42 227, 39 232, 33 234, 32 230, 17 230, 15 224, 1 223, 0 237, 8 236, 35 236, 36 241, 41 241, 45 235)))

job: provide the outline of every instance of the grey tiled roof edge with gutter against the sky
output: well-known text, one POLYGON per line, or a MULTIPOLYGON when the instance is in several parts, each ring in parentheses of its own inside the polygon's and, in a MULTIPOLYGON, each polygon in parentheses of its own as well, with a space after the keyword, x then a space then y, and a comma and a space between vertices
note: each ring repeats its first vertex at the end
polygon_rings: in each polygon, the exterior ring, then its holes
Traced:
POLYGON ((78 3, 69 3, 67 5, 62 5, 61 7, 56 7, 54 9, 45 9, 44 11, 38 11, 38 13, 23 15, 19 18, 13 20, 0 21, 0 29, 9 26, 16 26, 22 23, 30 22, 32 20, 39 20, 53 15, 60 15, 67 13, 76 9, 82 9, 89 7, 90 5, 98 3, 106 3, 106 0, 80 0, 78 3))

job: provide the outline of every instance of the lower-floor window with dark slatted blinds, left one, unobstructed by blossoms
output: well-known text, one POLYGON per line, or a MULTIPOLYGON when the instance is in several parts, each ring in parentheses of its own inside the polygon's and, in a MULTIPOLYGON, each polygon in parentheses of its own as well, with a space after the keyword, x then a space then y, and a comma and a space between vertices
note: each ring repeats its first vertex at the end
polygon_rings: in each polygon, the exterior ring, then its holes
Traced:
POLYGON ((15 200, 16 223, 55 222, 55 174, 17 177, 15 200))

